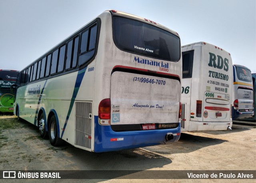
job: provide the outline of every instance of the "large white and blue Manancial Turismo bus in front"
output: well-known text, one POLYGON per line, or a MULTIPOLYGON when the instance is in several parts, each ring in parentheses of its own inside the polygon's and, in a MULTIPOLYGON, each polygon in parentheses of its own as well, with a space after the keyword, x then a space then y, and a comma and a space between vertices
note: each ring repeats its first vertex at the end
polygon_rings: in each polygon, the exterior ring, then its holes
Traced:
POLYGON ((93 152, 180 138, 179 35, 107 10, 20 72, 14 113, 54 146, 93 152))

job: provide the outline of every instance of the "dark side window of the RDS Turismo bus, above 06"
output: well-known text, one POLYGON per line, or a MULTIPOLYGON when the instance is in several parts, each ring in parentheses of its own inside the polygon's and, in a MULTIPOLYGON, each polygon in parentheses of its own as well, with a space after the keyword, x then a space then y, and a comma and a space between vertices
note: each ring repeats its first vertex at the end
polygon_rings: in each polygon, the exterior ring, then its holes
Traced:
POLYGON ((192 78, 194 50, 182 52, 182 78, 192 78))

